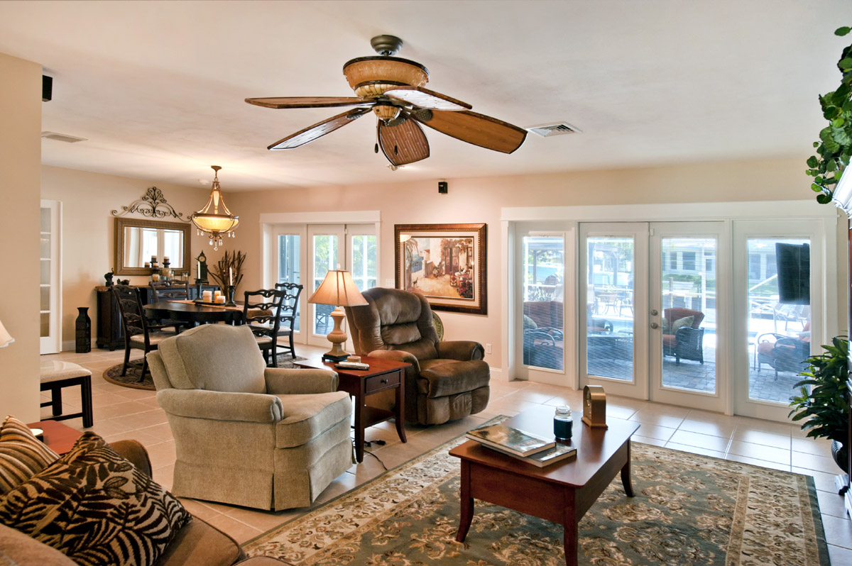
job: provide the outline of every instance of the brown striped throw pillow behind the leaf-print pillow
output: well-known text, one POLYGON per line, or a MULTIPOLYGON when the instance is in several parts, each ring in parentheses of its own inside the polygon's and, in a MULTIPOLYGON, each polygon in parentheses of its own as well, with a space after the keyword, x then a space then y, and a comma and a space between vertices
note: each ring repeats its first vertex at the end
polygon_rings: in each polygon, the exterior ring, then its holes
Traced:
POLYGON ((9 415, 0 425, 0 496, 59 459, 33 436, 30 427, 9 415))

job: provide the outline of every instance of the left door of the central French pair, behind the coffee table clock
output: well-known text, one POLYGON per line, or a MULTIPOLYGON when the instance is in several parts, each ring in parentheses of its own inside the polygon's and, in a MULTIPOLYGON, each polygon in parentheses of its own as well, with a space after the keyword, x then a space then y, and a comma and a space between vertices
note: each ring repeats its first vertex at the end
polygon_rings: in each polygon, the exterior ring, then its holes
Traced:
POLYGON ((646 399, 648 224, 581 224, 579 243, 580 386, 646 399))

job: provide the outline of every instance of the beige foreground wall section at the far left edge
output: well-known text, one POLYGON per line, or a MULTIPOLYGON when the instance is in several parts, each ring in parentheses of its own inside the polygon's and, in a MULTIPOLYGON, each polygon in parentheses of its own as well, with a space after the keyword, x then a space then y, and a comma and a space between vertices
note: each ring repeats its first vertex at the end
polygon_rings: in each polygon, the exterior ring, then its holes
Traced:
POLYGON ((39 163, 42 66, 0 54, 0 419, 38 420, 39 163))

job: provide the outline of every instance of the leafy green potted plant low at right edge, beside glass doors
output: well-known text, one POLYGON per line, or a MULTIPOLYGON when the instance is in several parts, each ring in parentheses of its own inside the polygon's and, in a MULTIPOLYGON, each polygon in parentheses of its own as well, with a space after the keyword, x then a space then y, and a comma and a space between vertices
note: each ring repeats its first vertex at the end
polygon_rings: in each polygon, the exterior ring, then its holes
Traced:
POLYGON ((795 385, 801 387, 802 394, 792 397, 789 416, 794 421, 808 419, 802 430, 808 431, 809 437, 843 443, 849 426, 849 340, 835 336, 831 346, 822 347, 824 353, 808 358, 808 368, 801 373, 807 379, 795 385))

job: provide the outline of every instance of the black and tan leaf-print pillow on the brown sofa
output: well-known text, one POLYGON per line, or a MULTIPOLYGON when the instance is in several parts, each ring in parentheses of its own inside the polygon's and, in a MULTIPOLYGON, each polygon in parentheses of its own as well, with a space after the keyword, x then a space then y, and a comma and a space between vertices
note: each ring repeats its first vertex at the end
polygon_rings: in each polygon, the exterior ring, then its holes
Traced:
POLYGON ((94 432, 0 499, 0 523, 82 566, 151 565, 191 519, 94 432))

